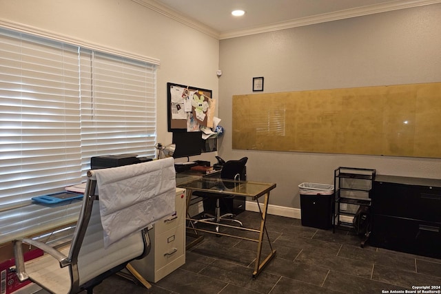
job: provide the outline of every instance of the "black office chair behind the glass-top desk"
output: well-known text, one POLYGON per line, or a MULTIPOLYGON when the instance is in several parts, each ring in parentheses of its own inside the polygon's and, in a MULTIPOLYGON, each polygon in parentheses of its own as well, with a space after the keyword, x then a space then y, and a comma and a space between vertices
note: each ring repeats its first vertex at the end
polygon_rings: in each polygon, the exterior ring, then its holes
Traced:
MULTIPOLYGON (((227 162, 225 162, 222 170, 220 171, 220 178, 223 178, 225 180, 245 180, 245 178, 240 179, 240 174, 243 174, 243 170, 245 169, 247 160, 247 157, 240 158, 239 160, 228 160, 227 162)), ((225 183, 225 187, 232 188, 228 187, 229 184, 234 185, 234 183, 225 183)), ((237 224, 239 224, 240 227, 243 227, 242 222, 240 222, 240 220, 236 220, 233 213, 225 213, 223 215, 220 215, 220 200, 223 198, 232 198, 233 196, 221 195, 218 193, 206 193, 202 191, 195 191, 193 195, 216 200, 216 209, 214 216, 211 216, 209 213, 205 213, 205 216, 209 216, 209 218, 203 218, 202 220, 214 222, 216 224, 219 224, 220 221, 227 220, 229 222, 236 222, 237 224)), ((218 225, 216 225, 216 231, 219 231, 218 225)))

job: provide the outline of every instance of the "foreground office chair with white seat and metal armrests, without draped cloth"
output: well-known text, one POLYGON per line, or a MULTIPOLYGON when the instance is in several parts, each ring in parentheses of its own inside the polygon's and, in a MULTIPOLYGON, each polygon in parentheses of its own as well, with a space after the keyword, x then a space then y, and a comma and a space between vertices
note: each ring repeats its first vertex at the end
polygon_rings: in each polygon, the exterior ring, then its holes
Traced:
POLYGON ((14 240, 20 281, 29 279, 50 293, 79 293, 84 290, 92 293, 93 287, 106 277, 124 269, 131 260, 143 258, 149 253, 147 229, 131 233, 105 248, 96 187, 96 179, 93 176, 88 178, 70 248, 59 251, 37 240, 14 240), (23 243, 37 246, 48 254, 24 262, 23 243))

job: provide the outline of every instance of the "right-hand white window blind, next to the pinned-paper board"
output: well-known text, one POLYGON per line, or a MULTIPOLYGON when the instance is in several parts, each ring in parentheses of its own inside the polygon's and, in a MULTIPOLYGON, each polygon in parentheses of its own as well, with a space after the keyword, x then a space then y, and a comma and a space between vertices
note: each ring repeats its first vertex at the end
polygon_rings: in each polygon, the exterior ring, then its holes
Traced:
POLYGON ((83 172, 96 155, 154 156, 155 66, 81 50, 80 67, 83 172))

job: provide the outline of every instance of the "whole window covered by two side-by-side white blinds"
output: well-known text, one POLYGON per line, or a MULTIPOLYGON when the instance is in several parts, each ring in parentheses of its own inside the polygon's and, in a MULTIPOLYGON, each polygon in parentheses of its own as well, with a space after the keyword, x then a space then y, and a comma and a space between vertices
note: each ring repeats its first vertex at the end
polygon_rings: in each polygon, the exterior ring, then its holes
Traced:
POLYGON ((155 141, 156 65, 0 28, 0 211, 155 141))

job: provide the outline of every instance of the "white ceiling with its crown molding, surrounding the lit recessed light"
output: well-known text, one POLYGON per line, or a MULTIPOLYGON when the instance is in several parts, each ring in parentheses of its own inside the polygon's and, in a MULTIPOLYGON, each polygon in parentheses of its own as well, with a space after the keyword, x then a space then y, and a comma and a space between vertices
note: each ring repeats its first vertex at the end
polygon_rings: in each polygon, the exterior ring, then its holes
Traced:
POLYGON ((218 39, 410 8, 441 0, 133 0, 218 39), (245 10, 233 17, 232 10, 245 10))

